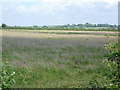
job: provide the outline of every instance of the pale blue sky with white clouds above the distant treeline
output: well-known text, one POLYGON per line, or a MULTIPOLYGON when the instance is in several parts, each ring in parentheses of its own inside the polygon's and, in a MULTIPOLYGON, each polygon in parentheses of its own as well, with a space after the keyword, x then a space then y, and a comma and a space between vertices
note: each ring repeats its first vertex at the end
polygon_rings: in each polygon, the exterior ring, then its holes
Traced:
POLYGON ((118 24, 119 0, 1 0, 0 24, 9 26, 118 24))

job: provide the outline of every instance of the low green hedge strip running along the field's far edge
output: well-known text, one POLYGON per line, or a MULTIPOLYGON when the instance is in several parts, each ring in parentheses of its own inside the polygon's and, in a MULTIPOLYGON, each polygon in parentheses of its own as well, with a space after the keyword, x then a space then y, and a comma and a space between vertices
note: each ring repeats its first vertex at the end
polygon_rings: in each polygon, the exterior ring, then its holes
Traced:
POLYGON ((63 28, 63 27, 4 27, 3 29, 18 30, 72 30, 72 31, 118 31, 115 28, 92 27, 92 28, 63 28))

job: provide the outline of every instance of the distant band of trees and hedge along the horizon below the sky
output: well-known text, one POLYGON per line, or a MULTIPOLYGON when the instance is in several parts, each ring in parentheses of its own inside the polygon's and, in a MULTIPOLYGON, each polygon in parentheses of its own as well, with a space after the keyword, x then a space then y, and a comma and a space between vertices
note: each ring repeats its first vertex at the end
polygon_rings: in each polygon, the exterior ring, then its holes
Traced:
POLYGON ((88 30, 88 29, 97 29, 97 30, 117 30, 117 25, 109 24, 67 24, 67 25, 57 25, 57 26, 8 26, 6 24, 1 25, 2 29, 29 29, 29 30, 88 30))

